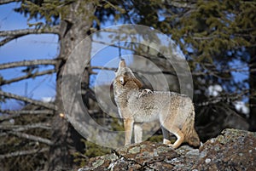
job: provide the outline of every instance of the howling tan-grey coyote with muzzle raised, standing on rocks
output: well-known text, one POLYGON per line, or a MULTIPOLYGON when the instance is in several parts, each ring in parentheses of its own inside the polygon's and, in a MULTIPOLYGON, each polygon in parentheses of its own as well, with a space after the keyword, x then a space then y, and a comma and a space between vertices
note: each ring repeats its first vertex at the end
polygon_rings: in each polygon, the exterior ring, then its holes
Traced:
POLYGON ((125 145, 131 144, 133 127, 135 143, 139 143, 143 138, 141 123, 158 120, 164 144, 172 148, 177 148, 183 142, 199 146, 200 140, 194 128, 195 111, 192 100, 184 94, 151 91, 142 87, 143 84, 125 65, 125 60, 121 60, 115 72, 113 94, 119 116, 124 119, 125 145), (170 133, 177 137, 174 144, 169 139, 170 133))

